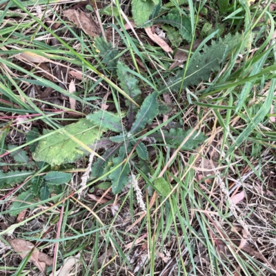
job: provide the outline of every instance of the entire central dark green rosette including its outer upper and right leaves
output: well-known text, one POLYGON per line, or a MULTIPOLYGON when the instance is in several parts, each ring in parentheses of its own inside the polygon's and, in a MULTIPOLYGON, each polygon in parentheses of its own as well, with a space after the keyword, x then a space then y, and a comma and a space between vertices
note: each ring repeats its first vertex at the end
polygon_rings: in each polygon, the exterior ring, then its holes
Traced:
MULTIPOLYGON (((130 74, 130 70, 124 64, 118 63, 117 76, 119 78, 121 88, 132 98, 137 100, 141 91, 138 87, 138 81, 130 74)), ((148 160, 148 149, 139 136, 144 135, 148 129, 148 125, 152 124, 153 119, 160 114, 159 103, 157 101, 158 92, 152 92, 144 99, 141 108, 137 110, 132 106, 130 101, 126 102, 128 106, 128 124, 127 129, 121 120, 121 117, 115 113, 99 110, 87 116, 87 119, 93 125, 99 126, 105 130, 111 130, 118 133, 109 138, 103 138, 92 145, 92 148, 106 148, 106 151, 101 156, 102 159, 97 159, 91 168, 92 177, 101 177, 106 180, 108 172, 111 170, 109 179, 112 182, 112 191, 117 194, 128 184, 130 173, 130 164, 132 156, 129 156, 132 148, 135 147, 135 152, 139 159, 139 164, 143 164, 148 160), (136 116, 135 116, 136 114, 136 116), (134 120, 132 120, 135 117, 134 120)), ((164 108, 162 108, 164 110, 164 108)), ((168 144, 178 146, 189 132, 181 129, 170 130, 166 132, 165 139, 168 144)), ((159 130, 151 135, 156 141, 161 141, 161 133, 159 130)), ((193 137, 184 145, 185 149, 193 149, 201 144, 206 137, 201 133, 195 133, 193 137), (197 137, 197 139, 195 139, 197 137)), ((168 146, 168 145, 166 145, 168 146)), ((134 155, 133 155, 134 156, 134 155)))

